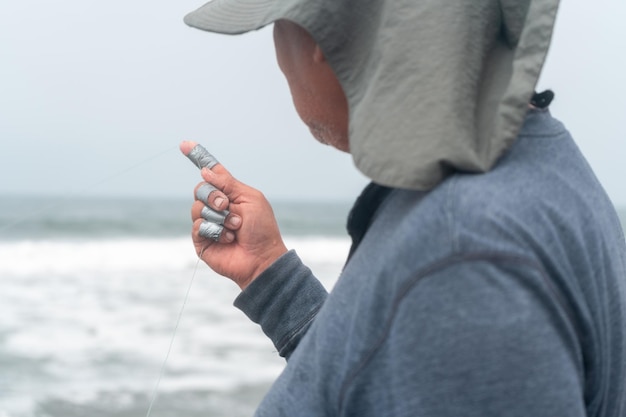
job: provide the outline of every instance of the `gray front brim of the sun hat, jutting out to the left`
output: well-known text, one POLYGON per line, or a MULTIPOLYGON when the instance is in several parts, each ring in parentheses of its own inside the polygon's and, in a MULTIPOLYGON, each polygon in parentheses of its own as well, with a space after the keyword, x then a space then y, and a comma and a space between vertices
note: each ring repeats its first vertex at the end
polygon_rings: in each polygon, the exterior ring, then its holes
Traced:
POLYGON ((276 0, 213 0, 185 16, 191 27, 236 35, 260 29, 274 20, 276 0))

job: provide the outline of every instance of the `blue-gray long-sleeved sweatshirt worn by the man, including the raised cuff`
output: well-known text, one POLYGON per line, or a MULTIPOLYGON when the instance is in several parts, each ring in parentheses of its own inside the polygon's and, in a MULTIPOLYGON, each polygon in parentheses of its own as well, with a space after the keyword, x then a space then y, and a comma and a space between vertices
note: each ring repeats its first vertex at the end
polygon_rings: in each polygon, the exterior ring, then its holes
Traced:
POLYGON ((329 295, 290 252, 238 297, 288 358, 256 415, 626 417, 625 254, 531 111, 490 172, 392 190, 329 295))

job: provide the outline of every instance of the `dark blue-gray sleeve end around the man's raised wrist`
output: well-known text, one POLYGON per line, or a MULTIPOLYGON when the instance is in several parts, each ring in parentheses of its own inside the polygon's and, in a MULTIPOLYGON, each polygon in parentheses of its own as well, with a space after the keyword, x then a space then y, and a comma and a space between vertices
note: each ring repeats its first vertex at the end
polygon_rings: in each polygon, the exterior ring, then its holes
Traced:
POLYGON ((280 356, 289 358, 328 293, 295 251, 259 275, 235 299, 235 307, 260 324, 280 356))

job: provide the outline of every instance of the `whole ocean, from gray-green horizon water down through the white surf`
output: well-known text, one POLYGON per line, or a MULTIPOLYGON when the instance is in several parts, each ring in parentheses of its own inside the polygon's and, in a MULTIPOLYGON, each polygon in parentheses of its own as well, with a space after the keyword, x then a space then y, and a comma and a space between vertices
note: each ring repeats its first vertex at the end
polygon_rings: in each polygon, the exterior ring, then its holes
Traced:
MULTIPOLYGON (((190 201, 0 196, 0 417, 244 417, 285 362, 198 265, 190 201)), ((327 287, 350 203, 273 202, 327 287)), ((626 224, 626 211, 621 211, 626 224)))

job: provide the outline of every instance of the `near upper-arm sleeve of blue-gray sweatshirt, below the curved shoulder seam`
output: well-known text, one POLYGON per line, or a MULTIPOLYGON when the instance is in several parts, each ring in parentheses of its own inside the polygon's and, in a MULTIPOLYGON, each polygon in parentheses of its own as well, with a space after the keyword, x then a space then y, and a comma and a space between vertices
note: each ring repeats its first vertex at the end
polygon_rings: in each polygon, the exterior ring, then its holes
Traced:
POLYGON ((548 279, 497 260, 416 278, 347 387, 344 410, 367 402, 358 387, 386 367, 390 416, 585 416, 577 331, 548 279))

